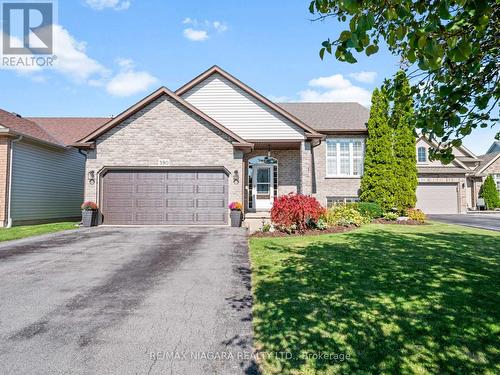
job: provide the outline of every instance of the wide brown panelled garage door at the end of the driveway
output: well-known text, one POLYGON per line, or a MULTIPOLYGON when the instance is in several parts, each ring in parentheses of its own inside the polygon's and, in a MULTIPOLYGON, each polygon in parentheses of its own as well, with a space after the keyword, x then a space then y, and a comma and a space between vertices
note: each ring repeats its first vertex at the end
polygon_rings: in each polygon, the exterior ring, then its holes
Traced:
POLYGON ((104 224, 227 224, 222 171, 109 171, 102 181, 104 224))

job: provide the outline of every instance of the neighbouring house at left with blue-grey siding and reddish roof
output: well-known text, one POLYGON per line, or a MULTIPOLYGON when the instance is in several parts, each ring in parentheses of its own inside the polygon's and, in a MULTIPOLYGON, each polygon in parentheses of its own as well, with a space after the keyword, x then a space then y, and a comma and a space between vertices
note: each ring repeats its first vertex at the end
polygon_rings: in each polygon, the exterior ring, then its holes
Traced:
POLYGON ((0 110, 0 225, 79 220, 85 157, 69 144, 107 121, 0 110))

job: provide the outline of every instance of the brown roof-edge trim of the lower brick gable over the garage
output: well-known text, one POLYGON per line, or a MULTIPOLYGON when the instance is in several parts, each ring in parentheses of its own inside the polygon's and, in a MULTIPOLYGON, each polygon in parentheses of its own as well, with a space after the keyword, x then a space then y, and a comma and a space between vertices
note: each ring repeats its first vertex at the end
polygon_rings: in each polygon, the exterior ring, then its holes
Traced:
POLYGON ((231 130, 227 129, 214 119, 212 119, 210 116, 206 115, 202 111, 200 111, 198 108, 194 107, 184 99, 182 99, 180 96, 176 95, 174 92, 170 91, 166 87, 162 86, 158 90, 152 92, 150 95, 146 96, 144 99, 141 101, 137 102, 130 108, 126 109, 122 113, 120 113, 118 116, 112 118, 109 120, 104 126, 100 127, 99 129, 95 130, 94 132, 90 133, 86 137, 81 138, 78 142, 74 144, 74 146, 77 147, 88 147, 90 142, 93 142, 96 138, 100 137, 110 129, 114 128, 116 125, 120 124, 133 114, 139 112, 141 109, 145 108, 147 105, 151 104, 154 102, 156 99, 162 97, 163 95, 166 95, 170 98, 172 98, 174 101, 179 103, 180 105, 184 106, 197 116, 201 117, 203 120, 207 121, 223 133, 227 134, 230 136, 232 139, 235 140, 234 145, 235 146, 243 146, 243 147, 251 147, 252 144, 247 143, 243 138, 240 138, 238 135, 233 133, 231 130))

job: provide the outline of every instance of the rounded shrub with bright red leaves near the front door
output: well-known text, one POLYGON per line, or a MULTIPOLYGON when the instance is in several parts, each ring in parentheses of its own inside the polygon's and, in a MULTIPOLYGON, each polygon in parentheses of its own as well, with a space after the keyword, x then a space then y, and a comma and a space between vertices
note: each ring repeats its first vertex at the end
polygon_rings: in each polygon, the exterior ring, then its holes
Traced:
POLYGON ((285 232, 302 232, 325 213, 316 198, 290 193, 278 197, 271 209, 271 221, 285 232))

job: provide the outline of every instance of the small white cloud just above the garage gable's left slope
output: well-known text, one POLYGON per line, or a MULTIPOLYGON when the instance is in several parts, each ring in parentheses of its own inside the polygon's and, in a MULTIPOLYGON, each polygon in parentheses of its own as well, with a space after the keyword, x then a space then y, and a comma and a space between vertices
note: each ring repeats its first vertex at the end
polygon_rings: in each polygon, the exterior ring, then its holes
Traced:
POLYGON ((106 91, 114 96, 130 96, 149 89, 158 82, 145 71, 136 71, 130 59, 119 59, 120 72, 106 84, 106 91))

